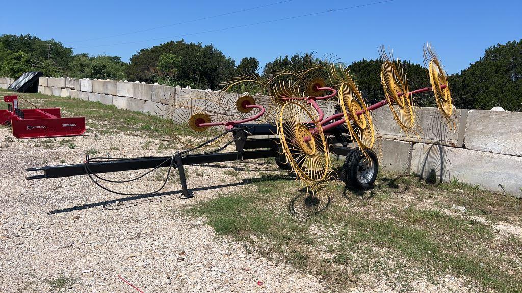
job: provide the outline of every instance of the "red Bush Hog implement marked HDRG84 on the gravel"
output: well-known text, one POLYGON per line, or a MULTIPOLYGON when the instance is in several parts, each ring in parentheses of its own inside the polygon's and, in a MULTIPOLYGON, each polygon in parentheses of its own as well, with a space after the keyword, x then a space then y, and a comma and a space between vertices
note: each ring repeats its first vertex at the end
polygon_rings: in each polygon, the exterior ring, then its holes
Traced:
POLYGON ((85 117, 62 118, 60 108, 20 109, 18 96, 6 95, 7 110, 0 110, 0 124, 11 124, 16 138, 79 136, 85 132, 85 117))

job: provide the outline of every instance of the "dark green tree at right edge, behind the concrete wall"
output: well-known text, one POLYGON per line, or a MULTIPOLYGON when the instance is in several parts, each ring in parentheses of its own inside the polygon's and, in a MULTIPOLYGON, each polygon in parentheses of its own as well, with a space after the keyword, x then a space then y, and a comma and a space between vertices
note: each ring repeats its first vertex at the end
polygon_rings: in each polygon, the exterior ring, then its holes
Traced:
POLYGON ((457 107, 522 111, 522 40, 489 47, 448 83, 457 107))

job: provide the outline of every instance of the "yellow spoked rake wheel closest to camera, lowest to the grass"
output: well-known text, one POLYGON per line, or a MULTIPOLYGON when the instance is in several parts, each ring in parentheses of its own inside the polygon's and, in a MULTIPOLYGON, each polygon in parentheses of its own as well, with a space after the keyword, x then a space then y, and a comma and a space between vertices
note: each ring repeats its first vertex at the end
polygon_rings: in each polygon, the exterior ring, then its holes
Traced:
POLYGON ((307 190, 316 193, 330 177, 330 156, 321 123, 310 106, 288 102, 281 107, 278 133, 284 155, 307 190))

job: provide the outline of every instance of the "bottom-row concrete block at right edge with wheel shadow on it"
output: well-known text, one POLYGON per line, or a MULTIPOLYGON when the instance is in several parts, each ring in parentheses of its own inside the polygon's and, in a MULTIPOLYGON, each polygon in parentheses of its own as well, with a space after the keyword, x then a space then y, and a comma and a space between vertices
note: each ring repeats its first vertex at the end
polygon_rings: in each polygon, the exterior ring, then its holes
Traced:
POLYGON ((481 152, 444 145, 413 146, 411 171, 423 178, 449 181, 458 178, 492 191, 522 197, 522 157, 481 152), (487 167, 485 167, 487 166, 487 167))

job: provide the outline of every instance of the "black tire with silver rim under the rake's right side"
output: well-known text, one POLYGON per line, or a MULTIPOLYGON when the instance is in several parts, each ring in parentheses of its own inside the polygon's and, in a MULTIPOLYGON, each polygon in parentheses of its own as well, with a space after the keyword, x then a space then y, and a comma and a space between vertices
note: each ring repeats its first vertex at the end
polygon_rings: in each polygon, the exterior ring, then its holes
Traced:
POLYGON ((379 161, 372 151, 368 151, 368 157, 371 163, 367 162, 360 150, 353 150, 346 156, 341 173, 341 179, 345 182, 346 187, 355 190, 372 188, 377 178, 379 161))

